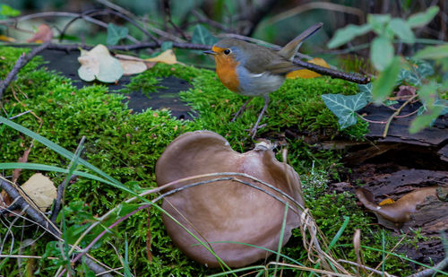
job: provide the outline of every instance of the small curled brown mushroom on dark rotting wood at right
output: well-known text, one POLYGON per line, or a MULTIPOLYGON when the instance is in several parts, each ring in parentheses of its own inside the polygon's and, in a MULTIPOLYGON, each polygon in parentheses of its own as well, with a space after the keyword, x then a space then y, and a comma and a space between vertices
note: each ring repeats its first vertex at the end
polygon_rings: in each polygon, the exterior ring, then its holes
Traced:
POLYGON ((356 195, 367 210, 374 212, 381 225, 396 229, 410 220, 410 215, 417 211, 417 205, 423 203, 429 195, 435 196, 437 186, 418 188, 409 194, 403 195, 394 203, 375 204, 373 195, 365 188, 358 188, 356 195))

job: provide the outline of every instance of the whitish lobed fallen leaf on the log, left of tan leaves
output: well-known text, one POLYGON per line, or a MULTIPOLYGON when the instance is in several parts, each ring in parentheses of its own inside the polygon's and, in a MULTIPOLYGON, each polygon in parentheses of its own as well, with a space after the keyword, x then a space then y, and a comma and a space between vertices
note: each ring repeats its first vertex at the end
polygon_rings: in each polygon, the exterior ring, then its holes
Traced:
POLYGON ((108 48, 99 44, 90 51, 81 51, 78 57, 81 67, 78 75, 86 82, 97 79, 99 82, 116 82, 123 75, 123 67, 113 56, 110 56, 108 48))

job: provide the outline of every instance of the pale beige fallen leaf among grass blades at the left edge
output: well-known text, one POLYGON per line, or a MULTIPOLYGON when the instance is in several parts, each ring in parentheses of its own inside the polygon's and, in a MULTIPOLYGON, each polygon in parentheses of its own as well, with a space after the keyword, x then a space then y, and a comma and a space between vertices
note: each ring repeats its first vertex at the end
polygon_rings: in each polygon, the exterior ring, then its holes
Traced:
POLYGON ((21 187, 42 212, 45 212, 56 199, 56 186, 48 177, 40 173, 31 176, 21 187))

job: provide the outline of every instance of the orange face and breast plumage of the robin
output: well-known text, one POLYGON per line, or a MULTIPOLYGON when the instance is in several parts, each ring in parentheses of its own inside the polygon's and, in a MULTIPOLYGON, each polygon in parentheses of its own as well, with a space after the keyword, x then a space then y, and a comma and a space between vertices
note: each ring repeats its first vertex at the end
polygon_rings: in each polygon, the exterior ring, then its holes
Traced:
POLYGON ((230 91, 239 91, 239 79, 237 75, 237 65, 239 63, 231 56, 215 56, 216 74, 226 88, 230 91))

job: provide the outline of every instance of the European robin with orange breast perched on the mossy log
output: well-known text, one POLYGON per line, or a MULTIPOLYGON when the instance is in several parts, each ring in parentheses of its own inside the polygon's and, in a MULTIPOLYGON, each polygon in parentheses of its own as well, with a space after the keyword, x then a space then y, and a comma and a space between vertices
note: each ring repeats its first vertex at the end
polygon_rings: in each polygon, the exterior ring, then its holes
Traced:
POLYGON ((254 128, 251 130, 254 138, 260 120, 269 104, 269 93, 277 91, 285 81, 285 76, 300 67, 294 65, 292 60, 302 42, 322 28, 323 23, 316 23, 292 39, 279 51, 264 48, 253 43, 239 39, 221 39, 211 50, 203 53, 215 58, 216 73, 220 82, 230 91, 249 96, 249 100, 237 111, 232 119, 246 108, 254 98, 261 96, 264 99, 262 112, 258 116, 254 128))

